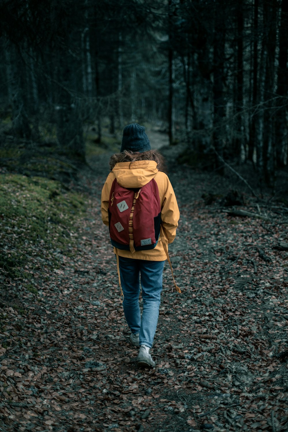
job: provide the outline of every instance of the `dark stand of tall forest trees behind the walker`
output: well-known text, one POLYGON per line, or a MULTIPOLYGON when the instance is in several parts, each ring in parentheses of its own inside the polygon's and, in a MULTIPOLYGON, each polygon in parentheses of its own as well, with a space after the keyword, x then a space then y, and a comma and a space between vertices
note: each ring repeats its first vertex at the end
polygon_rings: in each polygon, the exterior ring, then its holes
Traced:
POLYGON ((251 161, 273 185, 287 164, 287 1, 2 0, 0 15, 2 146, 85 160, 91 128, 101 143, 138 122, 219 173, 251 161))

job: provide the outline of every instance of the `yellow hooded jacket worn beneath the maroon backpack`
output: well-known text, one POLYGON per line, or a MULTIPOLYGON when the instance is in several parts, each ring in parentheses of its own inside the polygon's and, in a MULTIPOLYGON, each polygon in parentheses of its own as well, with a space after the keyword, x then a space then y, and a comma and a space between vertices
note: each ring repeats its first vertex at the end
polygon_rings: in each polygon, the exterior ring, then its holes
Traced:
POLYGON ((155 161, 136 161, 136 162, 119 162, 112 172, 108 175, 101 194, 101 215, 105 225, 108 222, 108 205, 110 190, 114 179, 127 188, 140 188, 147 184, 152 178, 155 179, 160 196, 161 203, 161 226, 167 238, 159 238, 154 249, 147 251, 136 251, 133 254, 130 251, 117 249, 120 257, 127 257, 140 260, 164 261, 167 259, 162 242, 172 243, 176 236, 176 228, 180 217, 177 200, 169 178, 164 172, 157 169, 155 161))

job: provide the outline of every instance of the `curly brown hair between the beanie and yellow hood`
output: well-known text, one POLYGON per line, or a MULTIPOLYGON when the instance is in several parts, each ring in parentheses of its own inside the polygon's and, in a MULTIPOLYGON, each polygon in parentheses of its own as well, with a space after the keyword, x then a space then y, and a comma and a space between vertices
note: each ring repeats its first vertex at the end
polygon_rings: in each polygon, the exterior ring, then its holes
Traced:
POLYGON ((149 150, 148 152, 130 152, 124 150, 122 153, 112 155, 109 165, 112 171, 118 162, 130 162, 129 168, 131 168, 131 164, 136 161, 155 161, 158 171, 165 171, 164 158, 156 150, 149 150))

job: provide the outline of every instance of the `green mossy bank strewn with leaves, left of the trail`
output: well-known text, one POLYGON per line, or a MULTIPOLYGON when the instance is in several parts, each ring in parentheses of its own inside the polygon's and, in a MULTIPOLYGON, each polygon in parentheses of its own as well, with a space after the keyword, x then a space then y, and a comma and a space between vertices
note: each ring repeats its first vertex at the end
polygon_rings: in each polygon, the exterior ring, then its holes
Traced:
POLYGON ((84 213, 83 197, 66 191, 59 181, 0 175, 0 268, 11 278, 25 276, 27 280, 35 271, 30 268, 31 257, 59 268, 54 251, 71 254, 75 223, 84 213))

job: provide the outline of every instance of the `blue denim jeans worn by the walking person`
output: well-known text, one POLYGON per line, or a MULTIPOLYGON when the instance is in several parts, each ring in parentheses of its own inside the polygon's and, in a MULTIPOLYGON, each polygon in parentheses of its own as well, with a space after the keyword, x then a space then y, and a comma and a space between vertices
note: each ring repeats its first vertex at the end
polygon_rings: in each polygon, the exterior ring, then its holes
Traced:
POLYGON ((139 332, 139 345, 152 347, 160 305, 162 273, 165 261, 135 260, 119 257, 124 294, 123 309, 132 333, 139 332), (139 308, 139 275, 142 286, 143 312, 139 308))

